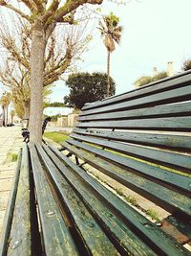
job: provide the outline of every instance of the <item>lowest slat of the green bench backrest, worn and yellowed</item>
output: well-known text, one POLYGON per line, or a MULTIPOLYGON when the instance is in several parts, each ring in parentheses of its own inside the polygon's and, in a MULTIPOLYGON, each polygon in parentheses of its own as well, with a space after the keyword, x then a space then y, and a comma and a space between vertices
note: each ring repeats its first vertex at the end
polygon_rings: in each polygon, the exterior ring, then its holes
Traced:
MULTIPOLYGON (((136 191, 138 194, 143 195, 145 198, 149 198, 167 211, 172 213, 180 212, 181 215, 185 216, 185 219, 191 220, 191 209, 189 207, 191 205, 190 198, 165 188, 164 186, 159 185, 157 182, 152 182, 144 177, 128 172, 105 159, 101 159, 97 156, 94 157, 95 155, 91 153, 78 150, 74 148, 74 146, 70 146, 67 143, 65 143, 65 147, 69 151, 74 152, 74 154, 78 155, 80 158, 84 159, 85 162, 90 163, 100 172, 117 179, 117 181, 123 185, 136 191)), ((98 151, 99 155, 104 156, 105 154, 110 154, 111 157, 114 157, 113 153, 102 151, 101 154, 101 150, 96 149, 97 154, 98 151)))

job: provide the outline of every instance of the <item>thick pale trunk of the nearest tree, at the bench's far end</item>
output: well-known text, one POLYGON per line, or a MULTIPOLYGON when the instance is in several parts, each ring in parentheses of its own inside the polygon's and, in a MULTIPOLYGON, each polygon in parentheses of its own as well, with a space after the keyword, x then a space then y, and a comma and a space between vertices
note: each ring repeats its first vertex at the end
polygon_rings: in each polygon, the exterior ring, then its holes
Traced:
POLYGON ((32 27, 30 141, 42 141, 43 71, 46 37, 39 20, 32 27))

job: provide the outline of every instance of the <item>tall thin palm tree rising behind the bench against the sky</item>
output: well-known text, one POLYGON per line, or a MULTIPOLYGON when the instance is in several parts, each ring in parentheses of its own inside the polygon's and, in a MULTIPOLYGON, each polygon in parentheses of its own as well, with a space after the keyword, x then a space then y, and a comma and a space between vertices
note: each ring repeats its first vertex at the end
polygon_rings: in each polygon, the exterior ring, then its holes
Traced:
POLYGON ((99 31, 107 49, 107 97, 110 96, 110 54, 116 49, 115 42, 120 42, 122 27, 118 26, 119 18, 110 12, 99 21, 99 31))

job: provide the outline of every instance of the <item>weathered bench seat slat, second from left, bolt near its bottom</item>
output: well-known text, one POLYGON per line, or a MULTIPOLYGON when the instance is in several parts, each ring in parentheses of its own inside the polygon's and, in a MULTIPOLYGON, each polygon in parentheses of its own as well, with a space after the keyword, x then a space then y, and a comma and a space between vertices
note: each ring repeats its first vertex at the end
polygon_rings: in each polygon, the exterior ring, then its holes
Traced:
POLYGON ((7 255, 32 255, 30 190, 29 153, 24 145, 7 255))

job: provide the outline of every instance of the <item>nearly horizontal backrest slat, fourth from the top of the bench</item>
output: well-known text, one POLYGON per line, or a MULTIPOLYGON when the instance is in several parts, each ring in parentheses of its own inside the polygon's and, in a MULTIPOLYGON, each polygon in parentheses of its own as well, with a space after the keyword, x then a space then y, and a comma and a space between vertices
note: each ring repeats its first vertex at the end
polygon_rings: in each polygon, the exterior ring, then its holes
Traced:
POLYGON ((164 117, 140 120, 93 121, 77 123, 77 128, 134 128, 134 129, 161 129, 161 130, 190 130, 191 119, 184 117, 164 117))

